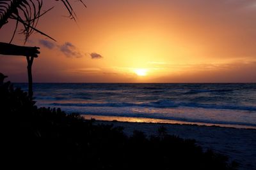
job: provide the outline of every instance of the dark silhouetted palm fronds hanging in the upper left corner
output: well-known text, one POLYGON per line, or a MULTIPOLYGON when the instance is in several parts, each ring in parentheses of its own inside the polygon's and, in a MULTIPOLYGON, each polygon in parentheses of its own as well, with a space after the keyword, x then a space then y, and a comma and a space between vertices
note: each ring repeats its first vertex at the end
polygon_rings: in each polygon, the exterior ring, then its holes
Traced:
MULTIPOLYGON (((45 1, 49 0, 44 0, 44 2, 45 1)), ((55 1, 61 1, 67 9, 69 17, 76 21, 76 13, 68 0, 55 1)), ((79 1, 86 7, 82 0, 79 1)), ((18 25, 21 24, 23 27, 22 33, 25 35, 25 42, 34 31, 51 38, 44 32, 36 29, 39 18, 53 8, 52 7, 49 10, 42 12, 42 6, 43 0, 0 0, 0 29, 4 24, 8 23, 8 19, 13 19, 16 21, 13 37, 17 31, 18 25)))

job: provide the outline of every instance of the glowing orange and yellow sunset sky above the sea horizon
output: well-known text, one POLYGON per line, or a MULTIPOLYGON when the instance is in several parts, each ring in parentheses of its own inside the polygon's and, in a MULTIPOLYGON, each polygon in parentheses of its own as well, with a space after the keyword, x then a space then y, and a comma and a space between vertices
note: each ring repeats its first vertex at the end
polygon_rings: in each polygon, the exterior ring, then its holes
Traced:
MULTIPOLYGON (((26 46, 40 46, 34 82, 256 82, 256 1, 86 0, 72 2, 77 22, 60 1, 44 15, 26 46)), ((0 30, 9 42, 13 25, 0 30)), ((13 41, 24 45, 24 36, 13 41)), ((26 58, 0 55, 0 72, 28 81, 26 58)))

